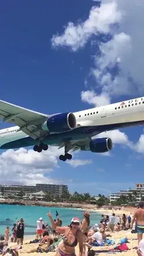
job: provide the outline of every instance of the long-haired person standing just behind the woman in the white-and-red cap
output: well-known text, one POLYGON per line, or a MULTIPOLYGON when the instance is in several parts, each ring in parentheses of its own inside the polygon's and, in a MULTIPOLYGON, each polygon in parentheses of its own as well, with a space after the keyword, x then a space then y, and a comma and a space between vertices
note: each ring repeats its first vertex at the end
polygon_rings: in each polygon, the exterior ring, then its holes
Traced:
POLYGON ((83 234, 83 252, 82 255, 85 256, 85 242, 86 238, 88 236, 88 231, 89 231, 89 225, 90 225, 90 213, 88 211, 84 212, 84 218, 81 221, 81 231, 83 234))

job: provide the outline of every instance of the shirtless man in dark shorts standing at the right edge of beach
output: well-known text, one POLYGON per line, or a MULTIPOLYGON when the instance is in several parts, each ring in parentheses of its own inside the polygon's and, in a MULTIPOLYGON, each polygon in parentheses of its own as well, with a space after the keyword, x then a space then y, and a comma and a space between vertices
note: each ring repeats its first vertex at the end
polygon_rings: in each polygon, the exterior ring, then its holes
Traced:
POLYGON ((139 203, 139 209, 135 210, 134 216, 131 222, 131 228, 134 225, 134 222, 137 221, 137 236, 138 244, 142 240, 144 234, 144 204, 143 202, 139 203))

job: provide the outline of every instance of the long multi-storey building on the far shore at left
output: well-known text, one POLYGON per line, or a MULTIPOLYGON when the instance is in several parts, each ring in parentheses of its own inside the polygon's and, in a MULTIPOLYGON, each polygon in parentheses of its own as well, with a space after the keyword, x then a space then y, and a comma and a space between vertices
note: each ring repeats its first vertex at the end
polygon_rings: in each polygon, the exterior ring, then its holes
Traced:
POLYGON ((50 193, 55 197, 65 197, 68 191, 67 185, 51 185, 51 184, 36 184, 36 186, 18 186, 18 185, 0 185, 0 194, 2 197, 22 197, 22 194, 35 194, 40 191, 50 193))

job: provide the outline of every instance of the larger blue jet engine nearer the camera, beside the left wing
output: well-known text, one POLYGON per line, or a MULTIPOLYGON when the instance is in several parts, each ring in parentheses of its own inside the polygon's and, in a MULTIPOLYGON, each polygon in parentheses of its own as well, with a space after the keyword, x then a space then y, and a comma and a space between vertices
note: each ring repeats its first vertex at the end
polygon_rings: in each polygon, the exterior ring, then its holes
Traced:
POLYGON ((75 115, 73 113, 52 115, 41 127, 44 131, 50 131, 51 133, 62 133, 73 130, 76 127, 75 115))

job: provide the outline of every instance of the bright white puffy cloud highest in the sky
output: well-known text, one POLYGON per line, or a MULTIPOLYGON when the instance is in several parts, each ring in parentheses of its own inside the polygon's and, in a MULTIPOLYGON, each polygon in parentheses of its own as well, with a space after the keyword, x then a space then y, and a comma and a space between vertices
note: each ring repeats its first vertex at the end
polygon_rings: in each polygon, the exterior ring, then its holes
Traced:
POLYGON ((67 46, 77 51, 78 48, 85 46, 92 35, 99 32, 109 33, 109 25, 119 22, 121 18, 122 14, 115 2, 105 3, 100 8, 93 6, 87 20, 77 25, 69 22, 62 35, 52 36, 52 46, 67 46))

